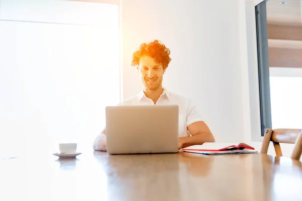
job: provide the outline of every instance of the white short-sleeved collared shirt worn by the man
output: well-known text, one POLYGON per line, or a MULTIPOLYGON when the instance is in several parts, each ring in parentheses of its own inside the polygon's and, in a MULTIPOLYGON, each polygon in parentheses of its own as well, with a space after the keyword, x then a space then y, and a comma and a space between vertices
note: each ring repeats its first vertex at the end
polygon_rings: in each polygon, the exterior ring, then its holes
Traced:
MULTIPOLYGON (((143 90, 137 95, 123 100, 119 106, 155 105, 146 97, 143 90)), ((203 121, 192 100, 164 89, 156 105, 178 105, 179 107, 179 137, 188 137, 187 127, 197 121, 203 121)))

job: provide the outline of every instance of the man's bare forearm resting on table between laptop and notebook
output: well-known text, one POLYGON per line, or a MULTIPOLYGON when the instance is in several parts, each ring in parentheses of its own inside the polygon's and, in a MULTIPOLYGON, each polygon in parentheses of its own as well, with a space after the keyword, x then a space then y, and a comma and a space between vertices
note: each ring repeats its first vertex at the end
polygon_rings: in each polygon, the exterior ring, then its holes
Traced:
POLYGON ((191 137, 179 138, 180 148, 185 148, 193 145, 202 145, 205 142, 215 142, 214 136, 211 133, 201 133, 191 137))

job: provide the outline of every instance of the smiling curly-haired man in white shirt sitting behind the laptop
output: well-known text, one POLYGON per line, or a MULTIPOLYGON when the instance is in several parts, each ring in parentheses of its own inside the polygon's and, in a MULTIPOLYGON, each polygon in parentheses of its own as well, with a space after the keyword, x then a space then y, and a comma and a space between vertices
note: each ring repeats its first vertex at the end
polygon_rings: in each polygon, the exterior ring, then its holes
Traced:
MULTIPOLYGON (((163 75, 170 61, 170 50, 160 41, 141 44, 133 53, 131 64, 140 74, 143 90, 119 105, 178 105, 179 149, 204 142, 215 142, 191 100, 163 88, 163 75)), ((106 129, 97 136, 93 148, 96 151, 106 151, 106 129)))

